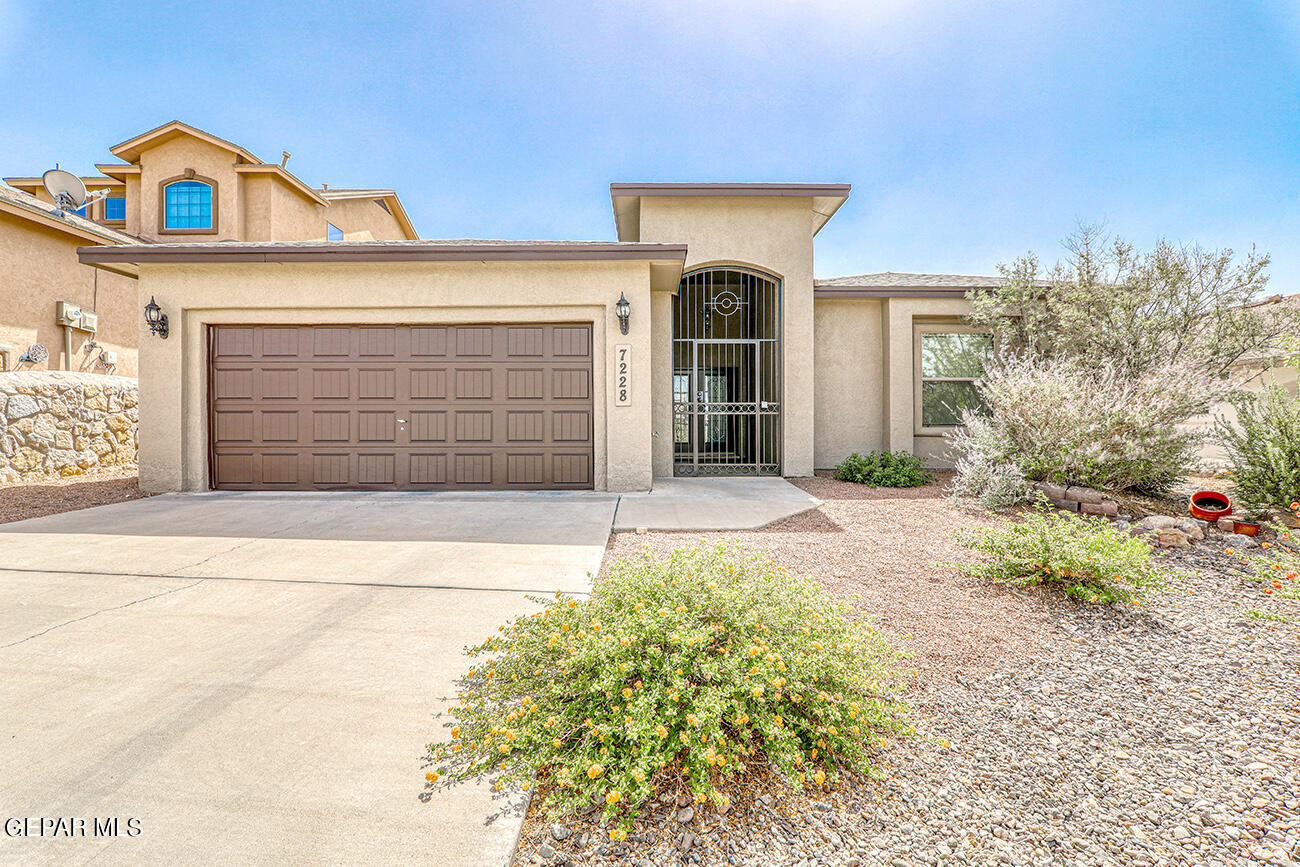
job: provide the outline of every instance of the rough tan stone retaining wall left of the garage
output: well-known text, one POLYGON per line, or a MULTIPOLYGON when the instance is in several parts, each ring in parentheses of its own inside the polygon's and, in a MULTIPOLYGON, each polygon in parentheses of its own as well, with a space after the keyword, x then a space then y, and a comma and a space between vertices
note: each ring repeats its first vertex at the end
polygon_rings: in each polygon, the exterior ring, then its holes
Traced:
POLYGON ((133 469, 138 404, 127 377, 0 373, 0 485, 133 469))

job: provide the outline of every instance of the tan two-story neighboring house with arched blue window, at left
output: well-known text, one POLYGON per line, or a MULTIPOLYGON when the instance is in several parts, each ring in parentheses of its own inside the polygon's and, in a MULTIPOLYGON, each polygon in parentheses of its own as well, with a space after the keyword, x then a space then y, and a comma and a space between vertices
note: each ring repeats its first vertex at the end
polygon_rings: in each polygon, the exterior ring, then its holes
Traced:
MULTIPOLYGON (((0 186, 0 370, 56 368, 135 376, 135 279, 78 263, 77 247, 186 242, 411 240, 393 190, 315 188, 285 162, 172 121, 110 148, 120 162, 82 181, 107 191, 58 211, 40 177, 0 186), (61 324, 58 302, 98 313, 95 330, 61 324), (40 343, 47 357, 34 360, 40 343)), ((65 320, 66 321, 66 317, 65 320)))

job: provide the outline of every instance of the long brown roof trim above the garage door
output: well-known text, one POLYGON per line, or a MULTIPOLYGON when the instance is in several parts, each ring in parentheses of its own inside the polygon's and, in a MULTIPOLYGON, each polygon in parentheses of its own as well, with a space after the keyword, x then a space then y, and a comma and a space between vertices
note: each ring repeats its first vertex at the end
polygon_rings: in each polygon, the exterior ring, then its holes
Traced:
POLYGON ((287 244, 134 244, 79 247, 87 265, 114 263, 338 263, 338 261, 685 261, 685 244, 419 242, 308 242, 287 244))

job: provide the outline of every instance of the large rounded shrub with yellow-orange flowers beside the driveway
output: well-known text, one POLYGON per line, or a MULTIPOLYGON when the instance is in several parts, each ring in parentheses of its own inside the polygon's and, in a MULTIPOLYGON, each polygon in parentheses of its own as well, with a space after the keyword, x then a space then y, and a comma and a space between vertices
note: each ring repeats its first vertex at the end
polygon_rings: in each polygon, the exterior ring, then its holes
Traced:
POLYGON ((907 728, 898 654, 766 558, 642 550, 590 599, 538 602, 467 651, 477 662, 430 776, 536 780, 552 812, 601 806, 620 840, 660 790, 722 807, 760 770, 827 785, 872 771, 884 736, 907 728))

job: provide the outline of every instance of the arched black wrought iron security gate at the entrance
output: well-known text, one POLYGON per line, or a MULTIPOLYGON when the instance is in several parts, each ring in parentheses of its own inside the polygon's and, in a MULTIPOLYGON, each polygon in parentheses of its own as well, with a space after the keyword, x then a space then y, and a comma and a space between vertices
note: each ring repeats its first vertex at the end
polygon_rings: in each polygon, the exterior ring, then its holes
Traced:
POLYGON ((681 278, 672 316, 673 472, 781 472, 781 287, 708 268, 681 278))

